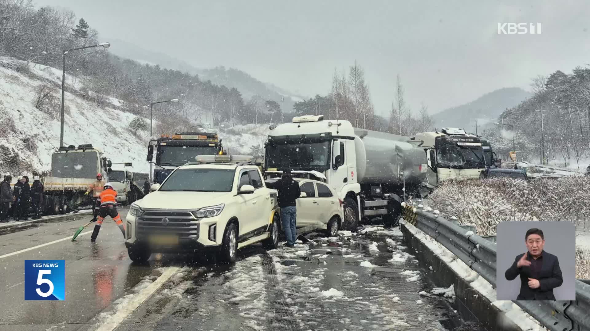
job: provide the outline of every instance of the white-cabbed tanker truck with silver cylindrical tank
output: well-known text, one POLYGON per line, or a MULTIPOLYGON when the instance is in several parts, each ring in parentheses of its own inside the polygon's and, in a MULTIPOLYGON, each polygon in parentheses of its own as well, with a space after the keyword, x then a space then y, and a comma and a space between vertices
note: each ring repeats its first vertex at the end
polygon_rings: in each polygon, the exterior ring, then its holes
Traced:
POLYGON ((426 183, 426 155, 421 142, 409 137, 305 115, 278 125, 267 138, 265 177, 290 168, 294 176, 332 186, 343 201, 341 229, 355 229, 359 221, 375 217, 395 225, 402 201, 419 196, 426 183))

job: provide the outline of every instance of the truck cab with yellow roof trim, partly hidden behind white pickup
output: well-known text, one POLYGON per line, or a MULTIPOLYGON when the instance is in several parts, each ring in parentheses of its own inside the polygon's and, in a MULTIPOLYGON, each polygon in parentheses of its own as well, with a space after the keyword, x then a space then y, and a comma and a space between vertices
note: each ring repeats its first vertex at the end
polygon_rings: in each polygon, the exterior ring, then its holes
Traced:
POLYGON ((149 193, 151 184, 162 184, 176 167, 194 161, 197 155, 218 154, 225 154, 225 151, 217 133, 180 132, 150 141, 146 160, 155 168, 152 173, 150 167, 145 193, 149 193))

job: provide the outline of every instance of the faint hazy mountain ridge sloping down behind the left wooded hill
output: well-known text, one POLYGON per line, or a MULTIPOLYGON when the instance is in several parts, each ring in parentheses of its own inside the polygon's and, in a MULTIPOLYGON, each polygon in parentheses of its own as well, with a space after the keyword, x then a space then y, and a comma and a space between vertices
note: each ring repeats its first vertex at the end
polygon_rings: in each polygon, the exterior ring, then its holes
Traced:
POLYGON ((196 68, 186 61, 160 52, 149 51, 132 42, 120 39, 112 39, 112 45, 113 47, 109 49, 109 52, 120 57, 130 58, 142 64, 158 64, 163 68, 176 69, 188 72, 189 74, 199 75, 202 81, 210 80, 213 84, 225 85, 228 88, 235 87, 241 92, 245 101, 249 100, 253 95, 260 95, 265 100, 277 101, 283 111, 290 112, 295 102, 304 99, 304 97, 294 95, 274 84, 261 82, 247 72, 239 69, 226 69, 225 67, 212 69, 196 68))

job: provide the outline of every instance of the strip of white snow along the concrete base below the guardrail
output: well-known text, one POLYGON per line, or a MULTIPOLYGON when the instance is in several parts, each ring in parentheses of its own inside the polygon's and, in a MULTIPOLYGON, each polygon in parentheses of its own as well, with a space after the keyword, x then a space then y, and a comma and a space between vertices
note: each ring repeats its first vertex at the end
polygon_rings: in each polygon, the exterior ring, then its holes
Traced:
POLYGON ((486 296, 487 299, 489 299, 490 302, 494 304, 494 306, 506 313, 506 316, 512 320, 512 322, 516 323, 516 325, 518 325, 521 329, 527 331, 545 330, 545 327, 541 326, 539 322, 533 319, 533 317, 531 317, 524 310, 520 309, 520 307, 514 304, 512 301, 496 300, 496 290, 493 289, 491 284, 479 276, 477 272, 471 270, 470 267, 468 267, 463 261, 458 260, 450 250, 446 249, 444 246, 421 230, 412 226, 412 224, 409 224, 403 220, 401 223, 411 233, 413 233, 414 236, 421 240, 422 243, 428 246, 428 248, 432 250, 434 254, 440 256, 441 259, 447 263, 447 265, 450 266, 460 277, 467 280, 471 287, 477 290, 477 292, 486 296))

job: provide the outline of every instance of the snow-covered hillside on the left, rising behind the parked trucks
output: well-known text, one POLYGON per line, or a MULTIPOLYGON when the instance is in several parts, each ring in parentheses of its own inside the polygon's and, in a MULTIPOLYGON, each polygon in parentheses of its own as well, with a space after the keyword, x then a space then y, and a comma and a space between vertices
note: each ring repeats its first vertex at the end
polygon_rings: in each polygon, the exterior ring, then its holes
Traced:
MULTIPOLYGON (((137 117, 126 111, 131 105, 107 98, 107 106, 98 107, 93 92, 83 92, 83 87, 84 78, 66 77, 64 145, 91 143, 113 163, 132 162, 128 170, 147 173, 149 137, 129 130, 137 117)), ((51 153, 60 142, 60 100, 61 70, 0 58, 0 171, 50 170, 51 153)), ((143 120, 149 128, 149 119, 143 120)), ((224 127, 218 128, 219 137, 231 154, 237 154, 250 153, 253 145, 261 147, 268 124, 224 127)))

